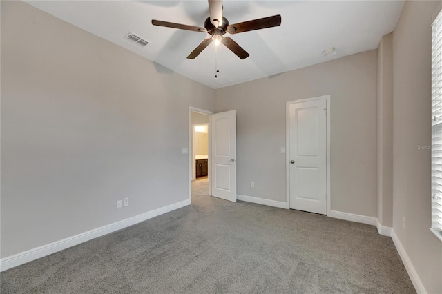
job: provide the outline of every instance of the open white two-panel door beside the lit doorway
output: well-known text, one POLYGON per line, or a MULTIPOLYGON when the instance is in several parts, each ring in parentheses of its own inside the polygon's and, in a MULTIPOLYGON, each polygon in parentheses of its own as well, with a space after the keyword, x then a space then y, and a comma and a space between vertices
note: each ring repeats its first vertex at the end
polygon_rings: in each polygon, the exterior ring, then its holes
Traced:
POLYGON ((211 115, 212 196, 236 202, 236 110, 211 115))

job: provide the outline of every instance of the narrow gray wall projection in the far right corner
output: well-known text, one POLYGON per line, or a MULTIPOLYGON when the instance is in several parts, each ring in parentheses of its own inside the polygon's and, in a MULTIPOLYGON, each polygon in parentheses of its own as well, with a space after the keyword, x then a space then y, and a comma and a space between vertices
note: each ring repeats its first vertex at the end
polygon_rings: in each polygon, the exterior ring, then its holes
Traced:
POLYGON ((382 37, 378 48, 377 93, 378 220, 393 222, 393 34, 382 37))

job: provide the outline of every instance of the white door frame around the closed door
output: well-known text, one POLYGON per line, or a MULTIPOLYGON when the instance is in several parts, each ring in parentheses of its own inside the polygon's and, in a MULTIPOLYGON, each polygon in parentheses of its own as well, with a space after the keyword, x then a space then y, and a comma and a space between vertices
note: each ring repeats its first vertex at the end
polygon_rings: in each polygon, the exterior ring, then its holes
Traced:
POLYGON ((327 150, 327 158, 326 158, 326 184, 327 184, 327 216, 329 215, 330 211, 332 210, 332 188, 331 188, 331 173, 330 173, 330 135, 331 135, 331 111, 330 111, 330 99, 331 95, 323 95, 319 97, 311 97, 306 99, 298 99, 298 100, 291 100, 287 101, 285 104, 285 175, 286 175, 286 202, 287 202, 287 208, 290 209, 290 110, 289 107, 291 104, 296 103, 302 103, 302 102, 309 102, 309 101, 315 101, 315 100, 323 100, 325 99, 327 103, 327 115, 326 115, 326 122, 327 122, 327 138, 326 138, 326 150, 327 150))

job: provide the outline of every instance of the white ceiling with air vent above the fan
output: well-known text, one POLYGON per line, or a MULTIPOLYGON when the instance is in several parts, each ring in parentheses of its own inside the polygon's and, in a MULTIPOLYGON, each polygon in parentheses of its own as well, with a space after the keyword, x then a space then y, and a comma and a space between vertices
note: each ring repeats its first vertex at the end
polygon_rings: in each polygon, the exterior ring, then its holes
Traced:
POLYGON ((404 1, 224 1, 223 15, 238 23, 281 14, 281 26, 229 35, 250 57, 241 60, 219 46, 215 79, 214 43, 196 59, 187 55, 206 37, 153 26, 152 19, 204 27, 207 1, 26 1, 55 17, 116 43, 149 60, 200 82, 222 88, 280 72, 376 49, 394 30, 404 1), (142 48, 124 39, 128 32, 149 43, 142 48), (329 57, 321 52, 336 47, 329 57))

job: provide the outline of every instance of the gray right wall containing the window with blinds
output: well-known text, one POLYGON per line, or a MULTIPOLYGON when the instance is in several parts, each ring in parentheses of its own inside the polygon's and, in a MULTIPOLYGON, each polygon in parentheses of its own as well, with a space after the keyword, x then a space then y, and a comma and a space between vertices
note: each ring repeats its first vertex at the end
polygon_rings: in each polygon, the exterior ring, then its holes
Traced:
POLYGON ((431 23, 440 1, 407 1, 393 33, 393 229, 428 293, 442 291, 431 226, 431 23), (402 219, 405 217, 405 230, 402 219))

